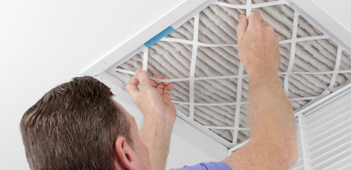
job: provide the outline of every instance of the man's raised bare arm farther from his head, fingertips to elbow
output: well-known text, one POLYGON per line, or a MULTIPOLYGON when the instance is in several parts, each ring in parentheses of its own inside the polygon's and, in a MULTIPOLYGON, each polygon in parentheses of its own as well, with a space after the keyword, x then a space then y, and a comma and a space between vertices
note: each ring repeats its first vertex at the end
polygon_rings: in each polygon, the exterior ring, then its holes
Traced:
POLYGON ((286 170, 297 159, 293 111, 281 85, 279 44, 258 12, 237 26, 239 57, 249 76, 251 139, 223 162, 234 170, 286 170))

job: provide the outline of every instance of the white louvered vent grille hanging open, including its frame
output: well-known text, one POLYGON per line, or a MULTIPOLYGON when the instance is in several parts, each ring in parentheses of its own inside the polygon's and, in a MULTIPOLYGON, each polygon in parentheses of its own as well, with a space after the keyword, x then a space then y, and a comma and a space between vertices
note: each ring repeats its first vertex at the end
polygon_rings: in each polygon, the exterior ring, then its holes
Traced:
POLYGON ((351 168, 350 92, 350 88, 342 90, 327 102, 324 100, 308 112, 297 114, 299 156, 292 170, 351 168))

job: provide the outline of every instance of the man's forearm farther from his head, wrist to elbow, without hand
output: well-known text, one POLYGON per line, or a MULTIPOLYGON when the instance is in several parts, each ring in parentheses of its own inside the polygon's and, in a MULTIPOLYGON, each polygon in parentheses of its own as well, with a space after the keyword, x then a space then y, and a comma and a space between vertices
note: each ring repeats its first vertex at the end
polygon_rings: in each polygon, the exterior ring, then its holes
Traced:
POLYGON ((295 154, 293 111, 276 72, 249 77, 251 138, 286 155, 295 154), (289 152, 293 152, 290 154, 289 152))

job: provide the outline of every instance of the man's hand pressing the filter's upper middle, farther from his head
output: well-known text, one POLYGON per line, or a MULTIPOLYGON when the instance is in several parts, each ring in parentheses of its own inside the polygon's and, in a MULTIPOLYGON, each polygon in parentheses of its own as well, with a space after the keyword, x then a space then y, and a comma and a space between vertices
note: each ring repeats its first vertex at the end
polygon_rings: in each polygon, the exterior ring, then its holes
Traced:
POLYGON ((240 15, 236 27, 239 58, 249 77, 276 73, 280 64, 278 37, 271 26, 253 11, 249 20, 240 15))

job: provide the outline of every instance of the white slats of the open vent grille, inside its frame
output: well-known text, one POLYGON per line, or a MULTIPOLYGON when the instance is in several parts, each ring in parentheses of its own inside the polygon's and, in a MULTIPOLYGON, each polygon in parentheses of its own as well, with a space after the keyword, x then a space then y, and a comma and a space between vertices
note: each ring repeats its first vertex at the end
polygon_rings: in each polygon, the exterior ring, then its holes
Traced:
MULTIPOLYGON (((348 101, 349 103, 351 100, 348 101)), ((351 104, 340 103, 306 116, 312 169, 350 164, 351 104), (328 133, 330 136, 326 136, 328 133)))

